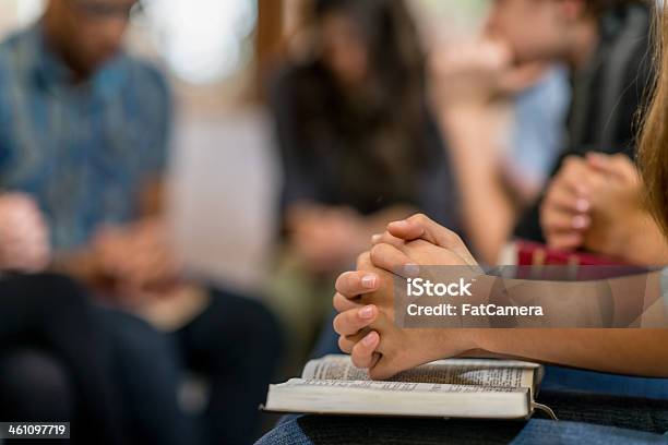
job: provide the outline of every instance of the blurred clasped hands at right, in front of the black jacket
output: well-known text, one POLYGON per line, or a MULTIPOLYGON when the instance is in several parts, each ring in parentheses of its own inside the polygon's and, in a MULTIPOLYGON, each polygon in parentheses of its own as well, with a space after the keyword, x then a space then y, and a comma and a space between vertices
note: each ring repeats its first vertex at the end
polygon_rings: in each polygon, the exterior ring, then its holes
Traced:
POLYGON ((629 157, 569 157, 540 208, 548 245, 584 249, 639 265, 668 261, 666 241, 643 206, 642 185, 629 157))

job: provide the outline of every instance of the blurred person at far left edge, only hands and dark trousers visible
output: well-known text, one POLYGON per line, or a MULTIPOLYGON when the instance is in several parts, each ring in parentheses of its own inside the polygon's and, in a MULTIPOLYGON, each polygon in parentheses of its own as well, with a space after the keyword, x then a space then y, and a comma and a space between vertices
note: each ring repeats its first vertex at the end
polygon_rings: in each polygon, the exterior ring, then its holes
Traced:
POLYGON ((35 274, 48 261, 36 203, 0 195, 0 419, 69 421, 73 443, 127 443, 108 342, 80 286, 35 274))

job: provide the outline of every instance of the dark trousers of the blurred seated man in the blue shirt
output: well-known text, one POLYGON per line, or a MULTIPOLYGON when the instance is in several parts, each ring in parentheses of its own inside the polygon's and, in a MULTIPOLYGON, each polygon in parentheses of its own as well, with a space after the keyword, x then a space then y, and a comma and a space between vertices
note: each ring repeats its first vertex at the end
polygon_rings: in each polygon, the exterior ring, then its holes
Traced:
POLYGON ((182 329, 163 334, 114 311, 99 311, 115 345, 114 372, 122 384, 136 443, 250 444, 281 357, 275 317, 258 301, 222 290, 182 329), (187 375, 204 381, 203 412, 180 411, 177 388, 187 375))

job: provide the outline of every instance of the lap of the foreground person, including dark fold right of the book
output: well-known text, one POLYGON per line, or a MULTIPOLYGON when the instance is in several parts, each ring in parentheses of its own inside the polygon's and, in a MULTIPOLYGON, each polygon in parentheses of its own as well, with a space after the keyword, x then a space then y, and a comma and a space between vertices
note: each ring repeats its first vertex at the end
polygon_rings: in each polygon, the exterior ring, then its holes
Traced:
POLYGON ((668 442, 668 402, 581 393, 545 393, 561 419, 521 421, 288 418, 259 444, 533 444, 668 442))

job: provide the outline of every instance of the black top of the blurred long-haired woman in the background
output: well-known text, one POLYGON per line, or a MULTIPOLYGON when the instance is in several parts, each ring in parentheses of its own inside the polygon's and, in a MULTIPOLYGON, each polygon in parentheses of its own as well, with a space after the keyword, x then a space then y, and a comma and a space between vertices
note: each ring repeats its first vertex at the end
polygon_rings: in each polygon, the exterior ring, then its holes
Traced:
POLYGON ((426 100, 414 113, 398 100, 390 110, 346 97, 319 62, 284 70, 271 91, 284 211, 310 201, 369 215, 403 204, 460 229, 451 163, 426 100), (417 131, 397 123, 416 115, 417 131))

